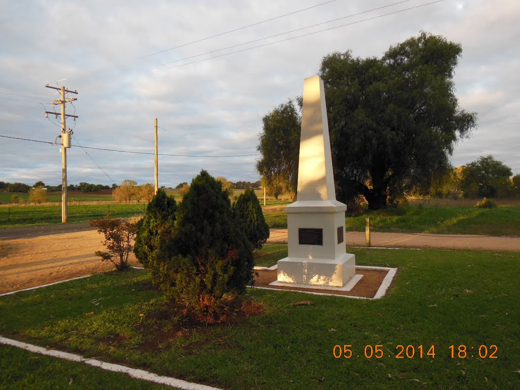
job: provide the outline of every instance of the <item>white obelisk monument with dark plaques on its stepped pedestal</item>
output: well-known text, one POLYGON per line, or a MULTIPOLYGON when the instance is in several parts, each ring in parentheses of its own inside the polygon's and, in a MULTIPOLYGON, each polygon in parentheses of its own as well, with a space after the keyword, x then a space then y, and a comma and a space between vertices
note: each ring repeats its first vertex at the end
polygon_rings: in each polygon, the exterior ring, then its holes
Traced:
POLYGON ((323 81, 305 79, 296 202, 285 207, 289 256, 277 284, 343 287, 356 259, 345 252, 345 210, 336 200, 323 81))

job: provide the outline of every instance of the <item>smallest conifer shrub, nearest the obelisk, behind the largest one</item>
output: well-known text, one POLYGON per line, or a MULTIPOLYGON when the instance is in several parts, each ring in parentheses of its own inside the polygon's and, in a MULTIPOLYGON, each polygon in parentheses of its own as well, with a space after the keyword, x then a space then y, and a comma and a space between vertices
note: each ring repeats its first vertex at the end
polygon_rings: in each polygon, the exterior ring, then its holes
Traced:
POLYGON ((262 249, 269 238, 269 225, 265 222, 262 206, 255 191, 246 188, 233 204, 233 213, 242 222, 245 236, 253 249, 262 249))

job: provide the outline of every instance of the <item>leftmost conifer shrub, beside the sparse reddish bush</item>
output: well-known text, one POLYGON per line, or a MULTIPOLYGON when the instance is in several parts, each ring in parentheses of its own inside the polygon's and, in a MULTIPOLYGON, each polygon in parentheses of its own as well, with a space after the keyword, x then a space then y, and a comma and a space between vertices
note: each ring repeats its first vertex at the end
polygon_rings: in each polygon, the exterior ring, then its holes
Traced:
POLYGON ((146 208, 145 216, 137 223, 134 254, 150 270, 154 283, 160 278, 162 257, 168 255, 175 230, 175 199, 160 188, 146 208))

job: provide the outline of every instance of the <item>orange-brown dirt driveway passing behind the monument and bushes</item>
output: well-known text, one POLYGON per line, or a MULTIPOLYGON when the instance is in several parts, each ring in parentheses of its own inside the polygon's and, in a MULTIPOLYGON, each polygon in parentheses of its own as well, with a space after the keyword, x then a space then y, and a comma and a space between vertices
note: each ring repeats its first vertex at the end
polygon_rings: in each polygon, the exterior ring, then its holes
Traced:
MULTIPOLYGON (((104 248, 102 236, 96 230, 29 237, 4 238, 0 242, 0 293, 113 268, 111 263, 102 263, 94 255, 95 251, 104 248)), ((287 229, 271 229, 269 242, 287 243, 287 229)), ((346 243, 365 246, 365 233, 347 232, 346 243)), ((373 233, 372 246, 520 252, 520 238, 373 233)), ((133 254, 131 256, 131 263, 138 265, 133 254)))

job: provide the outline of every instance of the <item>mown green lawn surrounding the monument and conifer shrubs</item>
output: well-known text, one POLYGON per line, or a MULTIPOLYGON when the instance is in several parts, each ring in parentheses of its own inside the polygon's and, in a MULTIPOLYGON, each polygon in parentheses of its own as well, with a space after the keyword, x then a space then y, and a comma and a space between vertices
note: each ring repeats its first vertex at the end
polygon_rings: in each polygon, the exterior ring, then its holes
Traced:
MULTIPOLYGON (((398 267, 387 296, 250 289, 247 297, 263 303, 264 314, 179 327, 174 314, 161 311, 147 271, 109 272, 0 298, 0 334, 226 389, 518 388, 519 253, 348 251, 358 264, 398 267), (291 305, 303 300, 314 305, 291 305), (466 355, 460 347, 459 357, 459 345, 466 355), (427 355, 431 346, 435 357, 427 355), (352 357, 340 356, 343 348, 352 357), (372 349, 383 356, 365 357, 372 349)), ((11 380, 33 375, 33 355, 6 349, 0 348, 0 367, 8 372, 0 387, 12 388, 11 380)), ((63 373, 50 367, 56 360, 38 360, 52 388, 64 388, 63 373)), ((77 370, 66 378, 81 375, 77 370)), ((101 387, 125 387, 107 383, 101 387)))

